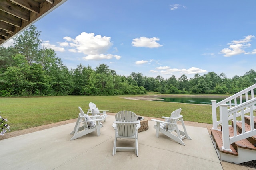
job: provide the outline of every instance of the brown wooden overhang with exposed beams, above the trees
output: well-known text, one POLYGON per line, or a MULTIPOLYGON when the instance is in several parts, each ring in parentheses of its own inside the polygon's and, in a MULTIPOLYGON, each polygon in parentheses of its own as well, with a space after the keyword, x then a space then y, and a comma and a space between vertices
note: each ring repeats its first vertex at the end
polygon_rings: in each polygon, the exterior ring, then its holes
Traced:
POLYGON ((67 0, 0 0, 0 46, 67 0))

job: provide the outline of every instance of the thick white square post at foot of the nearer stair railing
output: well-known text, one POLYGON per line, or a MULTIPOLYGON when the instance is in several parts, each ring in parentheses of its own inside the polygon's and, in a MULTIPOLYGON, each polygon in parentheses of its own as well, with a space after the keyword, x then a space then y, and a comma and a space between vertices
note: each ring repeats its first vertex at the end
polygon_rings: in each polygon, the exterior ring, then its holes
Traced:
POLYGON ((222 149, 232 152, 230 149, 230 142, 229 142, 229 129, 228 129, 228 105, 227 104, 220 104, 220 117, 222 120, 222 149))

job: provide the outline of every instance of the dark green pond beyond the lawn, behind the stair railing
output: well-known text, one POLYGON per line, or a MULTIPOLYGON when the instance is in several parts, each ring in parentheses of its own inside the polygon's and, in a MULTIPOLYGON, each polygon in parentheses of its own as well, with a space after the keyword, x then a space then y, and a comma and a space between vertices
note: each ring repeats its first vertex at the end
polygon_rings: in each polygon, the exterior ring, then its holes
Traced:
MULTIPOLYGON (((163 100, 158 100, 158 101, 160 101, 160 102, 193 103, 193 104, 212 104, 211 100, 216 100, 216 103, 218 103, 218 102, 224 100, 225 98, 172 97, 172 98, 161 98, 161 99, 163 99, 163 100)), ((238 101, 238 103, 239 103, 239 101, 238 101)))

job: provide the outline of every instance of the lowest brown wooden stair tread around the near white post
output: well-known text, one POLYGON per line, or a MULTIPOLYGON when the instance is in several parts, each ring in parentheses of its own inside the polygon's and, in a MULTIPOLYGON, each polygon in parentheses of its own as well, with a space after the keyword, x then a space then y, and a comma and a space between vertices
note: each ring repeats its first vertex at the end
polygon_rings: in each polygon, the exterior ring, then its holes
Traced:
POLYGON ((226 154, 232 154, 234 156, 238 156, 238 152, 236 151, 236 149, 230 145, 230 149, 232 150, 232 152, 228 152, 226 150, 222 150, 222 131, 218 131, 218 130, 214 130, 211 128, 211 134, 213 136, 214 141, 216 142, 216 146, 217 149, 220 150, 220 152, 222 153, 226 153, 226 154))

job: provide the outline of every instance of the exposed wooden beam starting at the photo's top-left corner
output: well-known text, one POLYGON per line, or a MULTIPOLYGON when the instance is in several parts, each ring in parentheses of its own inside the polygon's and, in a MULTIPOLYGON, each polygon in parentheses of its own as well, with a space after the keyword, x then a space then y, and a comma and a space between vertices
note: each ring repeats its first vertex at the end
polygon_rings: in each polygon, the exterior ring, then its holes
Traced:
POLYGON ((14 5, 10 1, 0 0, 0 10, 13 16, 16 16, 22 20, 29 21, 30 11, 20 8, 17 5, 14 5))

